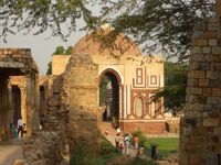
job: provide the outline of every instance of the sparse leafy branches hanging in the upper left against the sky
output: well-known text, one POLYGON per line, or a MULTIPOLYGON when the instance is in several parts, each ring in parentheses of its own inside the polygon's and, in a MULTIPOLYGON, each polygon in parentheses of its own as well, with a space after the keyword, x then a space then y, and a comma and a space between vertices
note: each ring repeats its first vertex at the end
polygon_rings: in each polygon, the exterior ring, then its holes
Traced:
POLYGON ((7 42, 10 33, 23 31, 36 35, 51 29, 52 36, 66 40, 76 31, 77 19, 82 18, 86 28, 96 23, 96 16, 86 8, 88 3, 87 0, 1 0, 1 36, 7 42))

